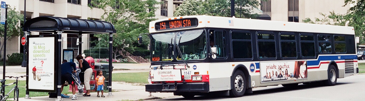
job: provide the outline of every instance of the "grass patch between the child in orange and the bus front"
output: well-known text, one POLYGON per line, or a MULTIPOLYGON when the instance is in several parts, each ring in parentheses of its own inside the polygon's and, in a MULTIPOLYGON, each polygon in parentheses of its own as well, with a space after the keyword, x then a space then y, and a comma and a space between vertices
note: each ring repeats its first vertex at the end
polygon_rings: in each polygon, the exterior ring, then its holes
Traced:
POLYGON ((138 73, 113 73, 113 81, 124 81, 128 83, 142 83, 148 84, 149 72, 138 72, 138 73))

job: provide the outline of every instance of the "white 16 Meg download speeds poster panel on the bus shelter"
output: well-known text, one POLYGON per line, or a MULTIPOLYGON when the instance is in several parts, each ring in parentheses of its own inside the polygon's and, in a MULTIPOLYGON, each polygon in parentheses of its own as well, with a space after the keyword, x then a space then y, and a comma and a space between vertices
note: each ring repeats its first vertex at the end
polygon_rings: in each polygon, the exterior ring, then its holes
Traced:
MULTIPOLYGON (((38 35, 37 35, 38 36, 38 35)), ((41 36, 41 35, 39 35, 41 36)), ((42 35, 43 36, 43 35, 42 35)), ((55 91, 55 37, 28 37, 28 91, 55 91)))

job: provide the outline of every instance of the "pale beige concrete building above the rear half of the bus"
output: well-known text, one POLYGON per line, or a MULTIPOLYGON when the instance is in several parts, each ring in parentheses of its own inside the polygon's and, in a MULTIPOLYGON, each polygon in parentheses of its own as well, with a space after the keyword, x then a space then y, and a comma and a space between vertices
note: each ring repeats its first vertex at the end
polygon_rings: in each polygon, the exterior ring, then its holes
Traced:
POLYGON ((303 19, 315 17, 323 19, 320 13, 329 15, 331 11, 339 14, 347 13, 351 4, 345 0, 261 0, 261 11, 274 21, 302 22, 303 19))

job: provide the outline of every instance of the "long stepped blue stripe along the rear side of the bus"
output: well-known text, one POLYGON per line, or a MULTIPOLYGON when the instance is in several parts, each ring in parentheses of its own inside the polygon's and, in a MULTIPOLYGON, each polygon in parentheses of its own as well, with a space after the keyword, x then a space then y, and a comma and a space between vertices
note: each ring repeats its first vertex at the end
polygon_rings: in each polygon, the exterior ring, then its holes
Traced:
POLYGON ((356 55, 346 55, 346 56, 319 56, 318 60, 307 61, 307 66, 319 65, 320 61, 328 60, 345 60, 345 59, 357 59, 356 55))

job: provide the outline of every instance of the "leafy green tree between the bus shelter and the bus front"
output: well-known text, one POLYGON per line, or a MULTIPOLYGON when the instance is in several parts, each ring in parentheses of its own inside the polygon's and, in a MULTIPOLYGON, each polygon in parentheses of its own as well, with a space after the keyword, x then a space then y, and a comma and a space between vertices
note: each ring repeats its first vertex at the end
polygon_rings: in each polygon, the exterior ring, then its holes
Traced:
MULTIPOLYGON (((113 36, 114 58, 122 55, 124 50, 131 49, 132 43, 140 33, 147 33, 149 22, 155 20, 155 0, 92 0, 90 8, 104 10, 101 20, 114 24, 116 33, 113 36)), ((109 35, 99 34, 97 47, 108 47, 109 35)), ((132 50, 130 50, 132 51, 132 50)))

